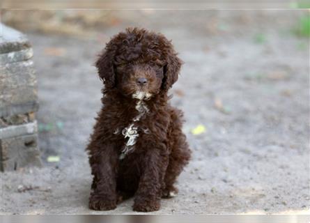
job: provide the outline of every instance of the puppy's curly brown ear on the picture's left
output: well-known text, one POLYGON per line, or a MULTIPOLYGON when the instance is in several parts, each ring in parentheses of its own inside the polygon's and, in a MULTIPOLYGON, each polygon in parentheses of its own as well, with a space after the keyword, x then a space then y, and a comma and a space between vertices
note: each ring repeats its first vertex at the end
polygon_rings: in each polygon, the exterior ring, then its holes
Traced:
POLYGON ((114 54, 115 50, 106 47, 105 51, 99 55, 99 58, 95 63, 96 68, 98 68, 98 75, 100 79, 102 79, 106 89, 112 89, 116 84, 114 54))

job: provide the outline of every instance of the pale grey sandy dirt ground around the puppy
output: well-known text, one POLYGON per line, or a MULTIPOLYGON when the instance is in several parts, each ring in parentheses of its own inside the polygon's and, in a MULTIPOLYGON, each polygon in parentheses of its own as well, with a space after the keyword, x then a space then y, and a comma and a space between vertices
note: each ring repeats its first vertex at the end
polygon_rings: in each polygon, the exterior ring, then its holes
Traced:
POLYGON ((292 31, 302 13, 116 11, 123 22, 95 38, 28 33, 45 167, 0 175, 1 213, 134 213, 132 199, 88 209, 84 151, 101 106, 95 55, 126 26, 164 33, 185 61, 170 93, 185 112, 193 155, 178 196, 156 213, 309 213, 309 40, 292 31), (206 131, 192 134, 197 125, 206 131), (60 161, 47 162, 51 155, 60 161))

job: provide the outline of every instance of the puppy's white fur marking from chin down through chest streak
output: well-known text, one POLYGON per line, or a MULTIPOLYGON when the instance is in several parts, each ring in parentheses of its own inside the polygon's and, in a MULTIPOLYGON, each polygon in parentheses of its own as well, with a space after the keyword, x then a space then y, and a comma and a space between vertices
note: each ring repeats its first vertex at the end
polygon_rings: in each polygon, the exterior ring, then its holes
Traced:
MULTIPOLYGON (((131 123, 130 125, 128 125, 126 128, 122 130, 122 134, 125 137, 125 139, 127 139, 127 141, 126 141, 126 144, 123 150, 121 151, 121 155, 119 157, 120 160, 123 160, 123 158, 125 158, 127 153, 129 153, 130 151, 134 149, 134 144, 136 144, 137 138, 139 137, 138 126, 134 124, 135 122, 139 121, 140 118, 144 116, 144 114, 150 111, 148 107, 146 106, 146 103, 144 102, 144 100, 149 100, 150 96, 151 96, 150 93, 145 93, 142 91, 137 91, 136 93, 132 95, 132 98, 139 99, 135 107, 137 111, 139 112, 139 114, 135 116, 134 118, 132 118, 133 123, 131 123)), ((150 133, 148 129, 142 129, 142 130, 146 134, 150 133)), ((118 134, 118 132, 119 132, 119 129, 116 129, 114 134, 118 134)))

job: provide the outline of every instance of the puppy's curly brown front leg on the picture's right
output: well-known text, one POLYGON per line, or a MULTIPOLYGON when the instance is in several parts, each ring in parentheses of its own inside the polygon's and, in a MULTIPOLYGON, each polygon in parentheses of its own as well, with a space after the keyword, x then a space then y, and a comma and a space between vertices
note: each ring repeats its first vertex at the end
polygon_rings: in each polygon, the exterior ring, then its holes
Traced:
POLYGON ((168 160, 165 148, 154 148, 146 152, 142 167, 144 171, 134 199, 134 210, 148 212, 160 209, 162 184, 168 160))

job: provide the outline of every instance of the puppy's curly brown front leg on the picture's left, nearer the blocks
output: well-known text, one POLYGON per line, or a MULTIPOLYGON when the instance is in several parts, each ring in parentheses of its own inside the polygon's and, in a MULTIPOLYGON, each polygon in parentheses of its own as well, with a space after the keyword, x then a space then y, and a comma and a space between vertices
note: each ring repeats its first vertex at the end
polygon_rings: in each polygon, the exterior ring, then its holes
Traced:
POLYGON ((93 210, 112 210, 116 208, 116 173, 118 168, 118 154, 114 146, 105 145, 95 155, 95 162, 91 165, 94 175, 93 192, 89 199, 89 208, 93 210))

